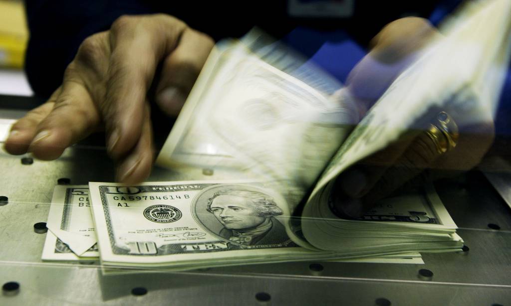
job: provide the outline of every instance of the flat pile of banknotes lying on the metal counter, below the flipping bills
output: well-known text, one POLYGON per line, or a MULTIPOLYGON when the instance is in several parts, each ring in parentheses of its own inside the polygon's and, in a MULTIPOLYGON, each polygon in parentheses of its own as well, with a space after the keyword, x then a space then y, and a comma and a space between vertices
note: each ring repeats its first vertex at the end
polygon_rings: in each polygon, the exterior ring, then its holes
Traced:
POLYGON ((299 218, 318 226, 307 239, 293 230, 293 219, 285 199, 263 183, 59 185, 42 259, 171 269, 338 259, 416 263, 419 251, 462 245, 432 189, 386 199, 359 220, 299 218), (331 235, 323 236, 329 226, 331 235))

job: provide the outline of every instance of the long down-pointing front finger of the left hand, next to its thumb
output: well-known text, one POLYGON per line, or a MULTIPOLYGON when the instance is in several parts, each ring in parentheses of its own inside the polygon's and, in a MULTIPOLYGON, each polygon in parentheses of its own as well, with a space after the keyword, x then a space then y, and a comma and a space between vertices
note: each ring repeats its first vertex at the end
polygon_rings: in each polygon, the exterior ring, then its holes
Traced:
POLYGON ((123 16, 112 25, 106 96, 100 104, 112 157, 126 155, 141 137, 146 94, 158 62, 172 52, 185 28, 166 15, 123 16))

